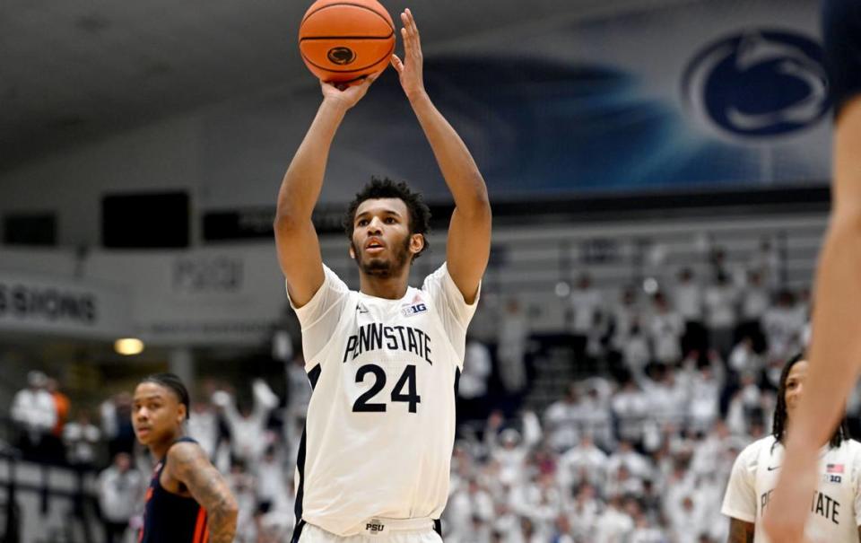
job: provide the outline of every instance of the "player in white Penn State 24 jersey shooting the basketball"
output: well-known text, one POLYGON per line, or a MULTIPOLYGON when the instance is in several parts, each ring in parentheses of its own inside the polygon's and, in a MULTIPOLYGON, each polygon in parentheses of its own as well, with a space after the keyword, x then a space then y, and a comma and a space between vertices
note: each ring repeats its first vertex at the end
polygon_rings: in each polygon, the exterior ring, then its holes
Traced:
POLYGON ((490 255, 491 207, 472 156, 424 90, 412 13, 401 21, 404 60, 393 55, 392 65, 455 200, 446 263, 421 289, 409 287, 430 212, 403 183, 372 180, 344 222, 359 292, 323 266, 311 212, 329 147, 378 74, 344 89, 322 83, 323 102, 284 176, 274 224, 313 388, 297 461, 294 542, 440 540, 455 388, 490 255))

